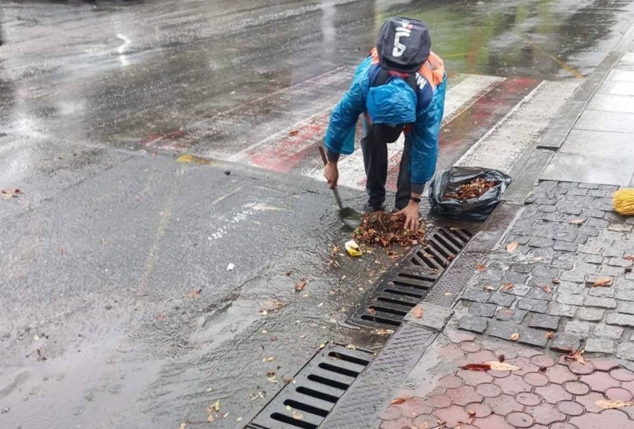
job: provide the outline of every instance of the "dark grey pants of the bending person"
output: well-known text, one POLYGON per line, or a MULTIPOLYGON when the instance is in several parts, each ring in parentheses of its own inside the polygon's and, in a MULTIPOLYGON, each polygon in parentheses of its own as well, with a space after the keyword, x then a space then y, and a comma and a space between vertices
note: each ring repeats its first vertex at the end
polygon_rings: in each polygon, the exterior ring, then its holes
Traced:
MULTIPOLYGON (((385 202, 385 182, 388 180, 388 143, 379 141, 374 133, 374 127, 366 122, 366 133, 361 139, 363 151, 363 164, 366 174, 366 192, 368 205, 373 209, 379 209, 385 202)), ((404 209, 409 204, 411 195, 411 182, 409 171, 409 157, 411 142, 405 139, 399 176, 397 180, 397 192, 394 201, 396 209, 404 209)))

